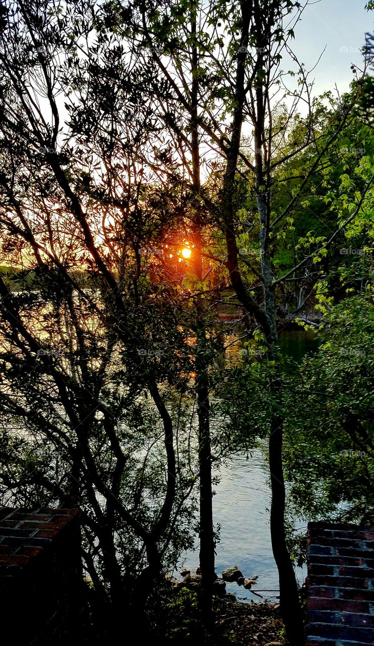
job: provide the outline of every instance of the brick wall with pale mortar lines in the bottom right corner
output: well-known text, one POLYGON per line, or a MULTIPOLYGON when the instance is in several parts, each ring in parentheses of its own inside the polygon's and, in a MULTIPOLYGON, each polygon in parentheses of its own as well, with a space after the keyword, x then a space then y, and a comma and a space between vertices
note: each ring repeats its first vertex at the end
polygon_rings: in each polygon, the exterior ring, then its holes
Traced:
POLYGON ((374 643, 374 527, 309 523, 306 646, 374 643))

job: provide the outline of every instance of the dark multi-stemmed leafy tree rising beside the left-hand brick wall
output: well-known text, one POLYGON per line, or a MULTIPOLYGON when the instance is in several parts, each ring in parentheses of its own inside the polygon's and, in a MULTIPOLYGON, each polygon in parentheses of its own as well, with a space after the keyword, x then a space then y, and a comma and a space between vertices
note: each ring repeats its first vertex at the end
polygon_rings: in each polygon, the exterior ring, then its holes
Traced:
POLYGON ((137 164, 152 110, 121 48, 92 39, 93 7, 3 12, 1 482, 6 504, 83 508, 84 565, 110 587, 115 632, 190 545, 195 361, 164 242, 177 194, 137 164))

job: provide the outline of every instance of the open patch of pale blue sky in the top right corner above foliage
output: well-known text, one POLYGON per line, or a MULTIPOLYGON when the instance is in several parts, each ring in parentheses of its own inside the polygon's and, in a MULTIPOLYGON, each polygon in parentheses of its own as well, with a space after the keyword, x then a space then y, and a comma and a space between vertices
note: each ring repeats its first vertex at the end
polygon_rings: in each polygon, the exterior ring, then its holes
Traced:
POLYGON ((339 92, 345 92, 353 78, 352 63, 362 67, 359 48, 364 45, 365 32, 374 31, 374 11, 367 12, 365 5, 366 0, 311 0, 304 10, 292 41, 295 54, 310 70, 327 46, 311 74, 313 94, 333 90, 335 83, 339 92))

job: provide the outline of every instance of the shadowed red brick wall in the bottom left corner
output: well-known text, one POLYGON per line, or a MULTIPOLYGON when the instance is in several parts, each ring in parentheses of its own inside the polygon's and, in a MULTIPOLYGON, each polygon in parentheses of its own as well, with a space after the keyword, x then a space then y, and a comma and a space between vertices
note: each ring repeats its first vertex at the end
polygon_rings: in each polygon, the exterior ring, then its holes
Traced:
POLYGON ((1 633, 6 643, 84 643, 78 510, 0 510, 1 633))

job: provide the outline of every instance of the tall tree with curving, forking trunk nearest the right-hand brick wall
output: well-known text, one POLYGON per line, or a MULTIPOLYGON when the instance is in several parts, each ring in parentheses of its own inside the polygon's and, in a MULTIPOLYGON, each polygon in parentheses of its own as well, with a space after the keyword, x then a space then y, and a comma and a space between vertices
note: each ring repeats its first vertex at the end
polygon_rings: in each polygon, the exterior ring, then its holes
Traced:
MULTIPOLYGON (((292 230, 295 209, 306 196, 313 178, 322 170, 326 152, 333 149, 348 124, 358 92, 340 101, 339 112, 331 123, 331 134, 324 138, 319 132, 322 103, 312 101, 308 73, 290 48, 290 41, 295 37, 295 24, 304 9, 300 3, 248 0, 231 3, 230 6, 226 3, 212 3, 208 7, 200 4, 198 10, 194 4, 194 11, 199 15, 197 57, 195 38, 192 42, 182 16, 187 6, 173 3, 166 8, 159 3, 156 9, 146 2, 139 6, 139 20, 133 21, 134 31, 139 34, 139 45, 148 47, 154 70, 144 90, 159 102, 158 118, 170 133, 172 143, 168 150, 173 163, 179 159, 180 167, 188 172, 189 155, 192 156, 188 132, 193 114, 198 120, 201 148, 204 145, 207 149, 213 147, 223 160, 224 177, 219 194, 210 193, 207 185, 202 187, 199 196, 226 240, 226 255, 222 254, 221 247, 213 259, 224 264, 239 302, 255 319, 271 368, 267 383, 274 401, 269 431, 271 539, 279 569, 280 605, 287 634, 292 643, 302 643, 302 616, 284 526, 283 419, 280 415, 283 384, 276 349, 277 304, 281 286, 288 280, 302 280, 306 269, 313 267, 313 258, 320 262, 328 253, 340 229, 331 236, 312 236, 310 242, 317 245, 320 255, 306 253, 301 260, 295 258, 295 266, 286 273, 277 273, 273 262, 274 244, 277 236, 284 236, 292 230), (291 71, 290 76, 297 75, 297 85, 286 90, 282 99, 277 101, 279 85, 286 78, 280 68, 285 54, 295 65, 296 71, 291 71), (191 56, 195 56, 193 73, 189 66, 191 56), (190 101, 192 87, 193 96, 198 94, 199 97, 197 110, 190 101), (273 123, 274 109, 286 98, 291 105, 283 109, 283 115, 273 123), (304 117, 299 114, 302 101, 308 109, 304 117), (298 120, 297 128, 291 128, 294 118, 298 120), (242 130, 246 123, 253 129, 252 154, 241 149, 242 130), (293 139, 291 134, 297 134, 296 138, 293 139), (297 160, 304 151, 309 154, 308 168, 299 177, 288 203, 280 209, 277 200, 280 182, 294 182, 296 179, 294 172, 281 176, 280 171, 291 169, 290 160, 297 160), (244 171, 239 168, 239 160, 245 165, 244 171), (243 187, 247 187, 248 200, 244 209, 243 187), (248 262, 238 253, 238 224, 243 225, 247 219, 255 222, 259 262, 248 262), (248 274, 251 275, 250 281, 247 280, 248 274), (253 276, 258 284, 253 284, 253 276)), ((208 159, 206 155, 205 160, 208 159)), ((150 163, 145 155, 143 160, 150 163)), ((167 174, 167 164, 161 172, 167 174)), ((347 222, 355 217, 368 199, 366 193, 371 182, 369 179, 364 183, 347 222)), ((299 307, 302 304, 299 302, 299 307)))

